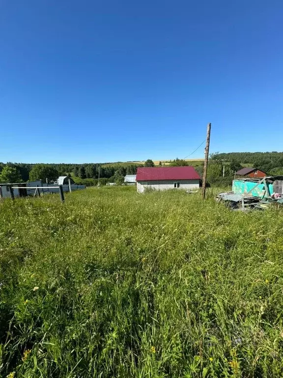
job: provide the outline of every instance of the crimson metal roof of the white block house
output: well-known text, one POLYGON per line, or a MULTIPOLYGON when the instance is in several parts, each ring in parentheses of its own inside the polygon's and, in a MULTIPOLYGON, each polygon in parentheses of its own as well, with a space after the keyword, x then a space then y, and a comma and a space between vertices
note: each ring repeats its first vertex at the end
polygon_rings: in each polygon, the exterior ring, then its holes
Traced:
POLYGON ((199 180, 194 167, 146 167, 138 168, 137 181, 147 180, 199 180))

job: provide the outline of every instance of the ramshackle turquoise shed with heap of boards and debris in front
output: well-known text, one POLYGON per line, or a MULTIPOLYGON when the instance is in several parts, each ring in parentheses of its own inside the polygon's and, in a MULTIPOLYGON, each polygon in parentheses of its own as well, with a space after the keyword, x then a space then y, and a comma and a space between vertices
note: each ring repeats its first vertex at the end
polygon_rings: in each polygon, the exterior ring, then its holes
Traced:
POLYGON ((233 180, 232 191, 219 193, 216 200, 242 211, 283 205, 283 176, 233 180))

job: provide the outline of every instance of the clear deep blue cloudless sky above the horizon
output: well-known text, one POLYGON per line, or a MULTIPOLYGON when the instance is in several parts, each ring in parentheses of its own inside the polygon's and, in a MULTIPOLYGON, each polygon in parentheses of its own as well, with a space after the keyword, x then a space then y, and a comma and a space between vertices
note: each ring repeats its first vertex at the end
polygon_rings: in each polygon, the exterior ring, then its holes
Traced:
POLYGON ((0 161, 184 158, 208 122, 211 152, 283 151, 282 20, 282 0, 0 0, 0 161))

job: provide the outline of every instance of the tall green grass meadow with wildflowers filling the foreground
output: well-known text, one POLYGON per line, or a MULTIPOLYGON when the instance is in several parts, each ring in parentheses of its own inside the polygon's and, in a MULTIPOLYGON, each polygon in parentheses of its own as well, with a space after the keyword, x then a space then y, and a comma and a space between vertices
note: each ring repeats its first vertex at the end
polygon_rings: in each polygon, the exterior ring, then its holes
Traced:
POLYGON ((0 377, 282 377, 283 212, 211 190, 1 201, 0 377))

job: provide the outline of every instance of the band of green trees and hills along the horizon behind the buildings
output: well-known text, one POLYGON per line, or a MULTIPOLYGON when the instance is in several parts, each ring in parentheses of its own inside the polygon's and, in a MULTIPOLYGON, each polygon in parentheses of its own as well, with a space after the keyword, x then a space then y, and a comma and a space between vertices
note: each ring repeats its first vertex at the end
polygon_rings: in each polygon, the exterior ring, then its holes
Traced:
MULTIPOLYGON (((281 152, 232 152, 211 154, 207 171, 207 182, 210 184, 227 184, 232 182, 234 173, 243 168, 243 165, 262 170, 268 175, 283 175, 283 153, 281 152), (223 166, 225 165, 225 177, 223 178, 223 166)), ((186 166, 188 161, 175 158, 170 161, 170 166, 186 166)), ((59 176, 72 176, 76 184, 87 186, 97 185, 98 177, 101 185, 107 182, 121 184, 125 175, 134 175, 138 167, 154 167, 151 159, 144 164, 139 163, 85 163, 85 164, 28 164, 0 162, 0 183, 17 183, 41 180, 54 182, 59 176)), ((161 167, 159 161, 157 166, 161 167)), ((195 167, 200 177, 203 173, 203 163, 195 167)))

